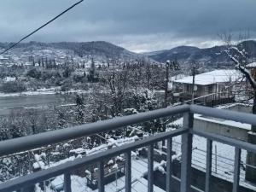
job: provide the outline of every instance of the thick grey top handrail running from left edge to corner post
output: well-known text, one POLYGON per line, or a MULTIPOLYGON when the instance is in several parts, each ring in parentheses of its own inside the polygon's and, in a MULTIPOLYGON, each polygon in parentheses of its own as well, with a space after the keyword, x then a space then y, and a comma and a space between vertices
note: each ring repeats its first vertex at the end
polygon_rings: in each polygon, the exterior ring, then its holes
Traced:
POLYGON ((53 143, 61 143, 68 139, 90 136, 99 132, 115 130, 125 125, 137 124, 147 120, 167 117, 172 114, 188 111, 189 105, 163 108, 146 113, 138 113, 125 117, 98 121, 96 123, 74 126, 67 129, 48 131, 32 136, 10 139, 0 142, 0 156, 14 154, 53 143))

